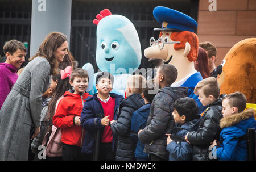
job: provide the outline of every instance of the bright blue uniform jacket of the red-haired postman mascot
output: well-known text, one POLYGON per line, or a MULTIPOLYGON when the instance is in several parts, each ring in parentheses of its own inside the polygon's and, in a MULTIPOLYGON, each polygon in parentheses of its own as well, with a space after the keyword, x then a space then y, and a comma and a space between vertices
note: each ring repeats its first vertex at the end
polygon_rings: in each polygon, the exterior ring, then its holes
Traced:
POLYGON ((198 99, 198 96, 195 95, 195 93, 194 93, 194 89, 195 89, 197 83, 201 80, 203 80, 203 78, 202 78, 200 72, 196 72, 195 74, 191 75, 191 77, 189 77, 187 79, 187 81, 185 81, 183 83, 183 85, 181 85, 181 87, 188 87, 187 97, 193 98, 196 101, 196 104, 198 106, 198 113, 199 114, 201 114, 206 108, 200 102, 200 100, 198 99))

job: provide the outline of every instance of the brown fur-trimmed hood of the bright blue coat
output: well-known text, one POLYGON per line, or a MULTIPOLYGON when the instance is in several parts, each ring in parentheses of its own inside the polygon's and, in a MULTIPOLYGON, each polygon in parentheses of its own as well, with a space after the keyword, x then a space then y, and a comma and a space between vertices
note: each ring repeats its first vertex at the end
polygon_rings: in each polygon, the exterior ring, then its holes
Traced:
POLYGON ((255 115, 254 109, 245 110, 241 113, 230 115, 220 120, 220 128, 231 127, 232 125, 240 123, 242 120, 249 119, 255 115))

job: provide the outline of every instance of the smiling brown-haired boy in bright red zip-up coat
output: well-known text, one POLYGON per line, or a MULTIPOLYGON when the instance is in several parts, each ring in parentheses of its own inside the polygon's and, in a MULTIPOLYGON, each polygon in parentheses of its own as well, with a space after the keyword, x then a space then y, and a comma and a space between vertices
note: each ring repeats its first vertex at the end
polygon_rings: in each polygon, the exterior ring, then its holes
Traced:
MULTIPOLYGON (((63 75, 68 75, 64 73, 63 75)), ((75 69, 69 83, 75 92, 66 91, 53 116, 53 125, 61 128, 63 142, 63 160, 80 160, 81 146, 85 131, 81 127, 80 115, 85 99, 90 96, 85 92, 88 86, 88 73, 84 69, 75 69)))

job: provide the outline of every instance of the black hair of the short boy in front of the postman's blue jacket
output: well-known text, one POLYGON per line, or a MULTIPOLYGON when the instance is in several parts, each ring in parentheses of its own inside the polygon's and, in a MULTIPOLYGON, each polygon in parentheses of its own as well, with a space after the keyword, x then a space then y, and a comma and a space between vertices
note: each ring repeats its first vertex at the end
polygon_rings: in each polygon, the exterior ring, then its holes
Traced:
POLYGON ((185 97, 174 102, 174 109, 180 116, 184 115, 186 117, 185 121, 188 122, 196 118, 198 107, 193 98, 185 97))

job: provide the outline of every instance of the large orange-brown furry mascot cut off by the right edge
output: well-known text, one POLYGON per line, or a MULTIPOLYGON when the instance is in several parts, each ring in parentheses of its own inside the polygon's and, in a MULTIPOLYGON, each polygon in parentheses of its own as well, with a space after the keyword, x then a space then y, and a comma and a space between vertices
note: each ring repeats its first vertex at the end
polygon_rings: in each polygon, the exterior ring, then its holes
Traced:
POLYGON ((226 60, 218 77, 220 94, 240 91, 247 103, 256 103, 256 38, 235 44, 224 57, 226 60))

